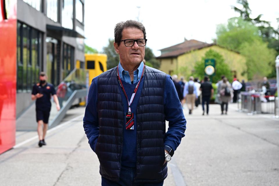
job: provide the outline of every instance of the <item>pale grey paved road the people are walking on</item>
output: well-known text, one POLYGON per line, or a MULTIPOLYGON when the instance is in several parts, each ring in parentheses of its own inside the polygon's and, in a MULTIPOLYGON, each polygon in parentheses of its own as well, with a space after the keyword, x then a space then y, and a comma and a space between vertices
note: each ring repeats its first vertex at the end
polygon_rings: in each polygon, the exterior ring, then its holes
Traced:
MULTIPOLYGON (((164 185, 274 185, 279 183, 279 119, 248 116, 229 105, 188 115, 186 136, 168 164, 164 185)), ((100 185, 99 161, 82 127, 84 108, 71 109, 38 148, 36 132, 17 132, 17 148, 0 155, 0 185, 100 185), (27 140, 27 141, 26 141, 27 140)))

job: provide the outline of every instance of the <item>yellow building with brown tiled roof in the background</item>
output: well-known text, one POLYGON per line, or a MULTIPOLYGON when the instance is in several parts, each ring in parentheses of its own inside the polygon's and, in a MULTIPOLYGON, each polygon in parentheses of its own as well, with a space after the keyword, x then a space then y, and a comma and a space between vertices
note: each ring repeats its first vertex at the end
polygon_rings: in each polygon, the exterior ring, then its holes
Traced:
POLYGON ((181 76, 181 72, 183 72, 189 77, 194 71, 195 62, 200 61, 210 49, 223 56, 232 71, 232 75, 239 80, 247 81, 247 77, 242 75, 242 72, 247 69, 244 56, 216 44, 208 44, 197 40, 185 40, 183 43, 161 49, 161 56, 157 57, 161 64, 160 70, 170 75, 177 73, 178 76, 181 76))

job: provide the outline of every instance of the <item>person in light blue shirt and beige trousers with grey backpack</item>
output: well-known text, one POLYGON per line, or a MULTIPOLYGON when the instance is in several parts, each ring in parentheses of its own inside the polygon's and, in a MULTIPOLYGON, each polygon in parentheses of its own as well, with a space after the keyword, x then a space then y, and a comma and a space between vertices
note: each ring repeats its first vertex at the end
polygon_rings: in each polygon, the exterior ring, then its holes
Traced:
POLYGON ((194 83, 193 76, 191 76, 189 78, 189 81, 185 83, 183 97, 186 99, 186 103, 189 108, 189 114, 192 114, 195 105, 195 100, 198 99, 198 92, 194 83))

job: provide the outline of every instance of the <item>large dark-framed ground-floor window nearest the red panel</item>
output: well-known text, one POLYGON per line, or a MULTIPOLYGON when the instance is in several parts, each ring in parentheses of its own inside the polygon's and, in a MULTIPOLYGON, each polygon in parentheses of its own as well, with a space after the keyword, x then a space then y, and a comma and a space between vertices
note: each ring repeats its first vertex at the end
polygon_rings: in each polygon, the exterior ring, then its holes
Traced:
POLYGON ((40 31, 17 23, 17 92, 31 91, 38 81, 41 57, 40 31))

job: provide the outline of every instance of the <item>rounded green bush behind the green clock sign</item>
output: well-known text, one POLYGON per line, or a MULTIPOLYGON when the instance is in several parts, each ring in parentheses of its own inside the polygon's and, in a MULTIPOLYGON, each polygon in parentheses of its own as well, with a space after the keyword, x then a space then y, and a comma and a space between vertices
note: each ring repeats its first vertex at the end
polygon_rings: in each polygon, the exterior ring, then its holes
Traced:
POLYGON ((197 61, 195 63, 195 66, 194 66, 195 72, 193 74, 193 76, 195 78, 196 77, 199 79, 204 78, 204 76, 205 76, 205 72, 204 72, 205 59, 215 59, 215 61, 216 61, 216 64, 215 64, 216 75, 213 77, 210 77, 210 78, 212 78, 213 83, 217 83, 222 75, 226 76, 230 82, 232 81, 232 74, 231 74, 230 67, 228 66, 228 64, 225 63, 223 56, 221 54, 219 54, 217 51, 214 51, 212 49, 210 49, 209 51, 207 51, 205 53, 205 56, 202 57, 201 61, 197 61))

